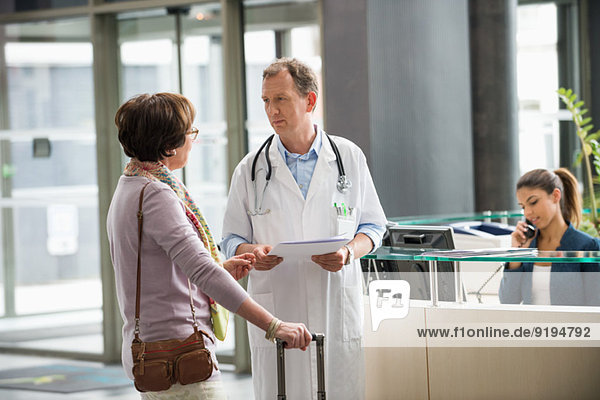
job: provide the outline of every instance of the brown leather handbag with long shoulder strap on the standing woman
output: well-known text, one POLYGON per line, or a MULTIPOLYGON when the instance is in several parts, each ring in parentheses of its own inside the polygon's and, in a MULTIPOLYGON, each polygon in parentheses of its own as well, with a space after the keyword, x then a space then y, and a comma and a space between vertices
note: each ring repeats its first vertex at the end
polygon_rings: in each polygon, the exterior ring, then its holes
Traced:
POLYGON ((140 392, 158 392, 167 390, 174 383, 188 385, 207 380, 216 365, 213 364, 210 351, 204 346, 203 335, 198 329, 196 310, 192 297, 192 286, 188 280, 190 307, 194 332, 186 339, 167 339, 157 342, 144 342, 140 339, 140 292, 141 292, 141 249, 142 249, 142 202, 148 182, 140 193, 138 211, 138 259, 137 283, 135 293, 135 338, 131 343, 133 356, 134 384, 140 392))

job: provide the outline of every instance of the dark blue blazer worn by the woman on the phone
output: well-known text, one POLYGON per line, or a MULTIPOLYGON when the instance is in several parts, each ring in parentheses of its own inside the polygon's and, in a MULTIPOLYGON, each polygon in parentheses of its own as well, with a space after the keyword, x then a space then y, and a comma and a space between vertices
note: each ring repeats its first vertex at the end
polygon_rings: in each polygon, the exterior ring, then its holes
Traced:
MULTIPOLYGON (((569 223, 559 250, 598 251, 600 241, 578 231, 569 223)), ((537 248, 537 236, 530 248, 537 248)), ((533 263, 522 263, 519 268, 504 268, 500 283, 500 302, 504 304, 531 304, 531 274, 533 263)), ((552 263, 550 269, 550 303, 552 305, 600 306, 600 264, 552 263), (583 272, 583 273, 582 273, 583 272)))

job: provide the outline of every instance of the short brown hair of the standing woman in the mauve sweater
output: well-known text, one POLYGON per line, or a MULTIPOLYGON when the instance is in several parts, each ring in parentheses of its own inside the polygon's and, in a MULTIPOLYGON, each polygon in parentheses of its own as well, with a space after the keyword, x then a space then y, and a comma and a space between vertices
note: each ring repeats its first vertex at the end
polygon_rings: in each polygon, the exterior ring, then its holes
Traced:
POLYGON ((140 161, 159 161, 183 146, 196 116, 193 104, 176 93, 140 94, 115 115, 125 154, 140 161))

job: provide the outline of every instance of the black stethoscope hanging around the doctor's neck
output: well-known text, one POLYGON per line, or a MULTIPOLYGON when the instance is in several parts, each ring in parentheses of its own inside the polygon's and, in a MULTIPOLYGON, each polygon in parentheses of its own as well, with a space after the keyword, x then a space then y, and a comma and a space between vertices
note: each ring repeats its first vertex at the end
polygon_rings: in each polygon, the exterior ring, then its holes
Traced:
MULTIPOLYGON (((346 171, 344 170, 344 164, 342 163, 342 157, 340 157, 340 151, 337 145, 334 143, 333 139, 329 137, 328 134, 325 133, 325 136, 327 137, 327 139, 329 139, 329 143, 331 143, 331 148, 333 149, 333 153, 335 154, 335 163, 338 167, 338 180, 336 183, 336 187, 340 193, 344 194, 348 192, 348 189, 352 187, 352 182, 350 182, 350 179, 346 177, 346 171)), ((269 148, 271 147, 271 143, 273 142, 274 137, 275 134, 269 136, 267 140, 264 141, 264 143, 258 149, 258 152, 256 152, 254 160, 252 160, 252 174, 250 177, 252 179, 252 185, 254 186, 254 211, 247 211, 248 215, 251 216, 265 215, 271 212, 271 210, 268 208, 266 210, 263 210, 262 203, 265 199, 265 191, 267 190, 267 186, 269 186, 269 182, 271 181, 271 172, 273 172, 273 168, 271 167, 271 158, 269 157, 269 148), (258 158, 260 157, 260 153, 263 151, 263 149, 265 149, 265 159, 267 160, 267 174, 265 176, 265 186, 263 188, 262 196, 259 203, 258 190, 256 188, 256 163, 258 162, 258 158)))

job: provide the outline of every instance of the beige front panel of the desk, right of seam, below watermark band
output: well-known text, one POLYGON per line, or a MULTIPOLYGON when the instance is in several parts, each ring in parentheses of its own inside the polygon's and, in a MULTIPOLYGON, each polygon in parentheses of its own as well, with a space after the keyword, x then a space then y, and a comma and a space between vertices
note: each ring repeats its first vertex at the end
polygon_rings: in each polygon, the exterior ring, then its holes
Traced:
POLYGON ((600 348, 430 348, 431 400, 597 399, 600 348))

